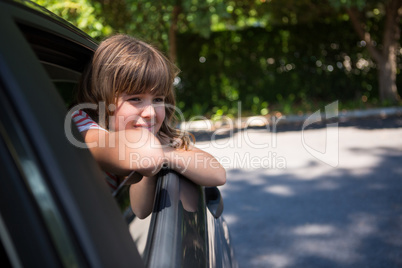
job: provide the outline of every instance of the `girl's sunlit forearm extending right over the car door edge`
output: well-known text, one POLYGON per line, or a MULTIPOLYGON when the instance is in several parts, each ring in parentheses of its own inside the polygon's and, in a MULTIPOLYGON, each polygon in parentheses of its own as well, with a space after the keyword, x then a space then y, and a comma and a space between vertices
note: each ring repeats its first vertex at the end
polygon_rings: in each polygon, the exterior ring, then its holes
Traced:
POLYGON ((197 149, 164 148, 169 168, 201 186, 219 186, 226 182, 226 171, 212 155, 197 149))

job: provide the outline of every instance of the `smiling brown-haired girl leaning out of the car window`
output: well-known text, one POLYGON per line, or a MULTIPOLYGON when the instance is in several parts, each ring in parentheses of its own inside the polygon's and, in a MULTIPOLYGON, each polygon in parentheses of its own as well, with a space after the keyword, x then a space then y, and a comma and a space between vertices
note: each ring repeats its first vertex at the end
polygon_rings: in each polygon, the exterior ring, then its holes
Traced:
POLYGON ((162 166, 198 185, 226 182, 219 162, 172 127, 177 73, 154 47, 115 35, 99 45, 79 86, 79 103, 96 104, 105 111, 83 109, 73 119, 85 142, 96 145, 89 147, 109 185, 116 186, 116 178, 130 175, 130 202, 140 218, 152 211, 156 175, 162 166))

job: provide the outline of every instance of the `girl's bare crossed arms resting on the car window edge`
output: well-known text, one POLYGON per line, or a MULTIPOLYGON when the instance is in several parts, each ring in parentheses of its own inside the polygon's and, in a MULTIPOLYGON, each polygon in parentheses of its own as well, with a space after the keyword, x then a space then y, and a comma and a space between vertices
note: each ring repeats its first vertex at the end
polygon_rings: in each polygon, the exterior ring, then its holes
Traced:
POLYGON ((118 132, 88 130, 84 133, 95 160, 105 171, 127 176, 133 170, 143 178, 130 186, 130 203, 139 218, 147 217, 153 207, 156 175, 163 165, 183 174, 201 186, 219 186, 226 182, 226 171, 210 154, 192 147, 177 149, 161 142, 146 129, 118 132), (103 145, 103 146, 100 146, 103 145))

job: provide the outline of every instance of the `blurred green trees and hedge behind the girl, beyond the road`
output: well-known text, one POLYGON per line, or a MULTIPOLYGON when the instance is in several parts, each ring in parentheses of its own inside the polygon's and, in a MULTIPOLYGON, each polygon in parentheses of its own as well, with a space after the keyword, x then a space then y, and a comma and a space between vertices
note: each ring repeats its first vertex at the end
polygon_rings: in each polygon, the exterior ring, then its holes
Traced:
POLYGON ((157 46, 182 71, 187 120, 401 105, 399 0, 35 2, 97 40, 157 46))

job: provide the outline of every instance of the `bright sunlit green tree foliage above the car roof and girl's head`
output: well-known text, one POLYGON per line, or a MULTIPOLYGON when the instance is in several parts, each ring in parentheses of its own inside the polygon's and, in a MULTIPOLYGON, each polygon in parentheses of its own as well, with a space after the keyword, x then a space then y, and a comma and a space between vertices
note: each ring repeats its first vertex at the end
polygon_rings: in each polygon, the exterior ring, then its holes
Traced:
MULTIPOLYGON (((176 36, 193 32, 208 37, 211 17, 223 0, 34 0, 96 39, 122 32, 167 51, 176 62, 176 36)), ((224 11, 224 10, 223 10, 224 11)))

